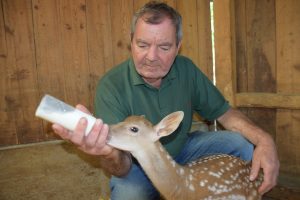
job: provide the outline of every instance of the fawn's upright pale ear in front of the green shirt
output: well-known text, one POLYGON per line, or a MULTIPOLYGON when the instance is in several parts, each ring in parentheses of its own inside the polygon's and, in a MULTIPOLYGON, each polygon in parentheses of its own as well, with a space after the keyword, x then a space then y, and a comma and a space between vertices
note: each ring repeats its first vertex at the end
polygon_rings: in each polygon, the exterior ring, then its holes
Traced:
POLYGON ((173 133, 182 121, 184 113, 182 111, 173 112, 164 117, 157 125, 154 126, 156 140, 173 133))

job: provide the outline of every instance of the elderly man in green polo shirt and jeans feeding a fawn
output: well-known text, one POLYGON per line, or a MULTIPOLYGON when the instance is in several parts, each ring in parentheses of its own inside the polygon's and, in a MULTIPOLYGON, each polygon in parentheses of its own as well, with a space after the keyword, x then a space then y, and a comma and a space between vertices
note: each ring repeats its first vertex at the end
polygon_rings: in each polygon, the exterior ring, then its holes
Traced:
MULTIPOLYGON (((84 152, 99 156, 103 169, 112 174, 111 199, 158 199, 159 193, 139 163, 127 152, 106 144, 107 124, 129 115, 145 115, 155 124, 165 115, 182 110, 185 117, 179 129, 161 140, 178 163, 217 153, 252 160, 250 178, 254 180, 262 168, 264 182, 259 191, 267 192, 276 184, 279 169, 272 138, 231 108, 191 60, 178 55, 181 39, 180 14, 165 3, 147 3, 133 17, 132 57, 99 81, 95 99, 99 119, 90 134, 84 136, 85 119, 72 134, 57 124, 54 131, 84 152), (218 120, 228 131, 189 134, 193 112, 218 120)), ((81 105, 77 108, 88 112, 81 105)))

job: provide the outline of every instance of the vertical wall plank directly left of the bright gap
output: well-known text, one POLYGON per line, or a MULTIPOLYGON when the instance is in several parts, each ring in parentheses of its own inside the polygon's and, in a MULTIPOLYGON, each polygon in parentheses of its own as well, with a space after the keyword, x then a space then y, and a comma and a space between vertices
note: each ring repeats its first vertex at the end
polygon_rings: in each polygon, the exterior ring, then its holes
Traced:
POLYGON ((210 0, 197 0, 198 65, 213 80, 210 0))

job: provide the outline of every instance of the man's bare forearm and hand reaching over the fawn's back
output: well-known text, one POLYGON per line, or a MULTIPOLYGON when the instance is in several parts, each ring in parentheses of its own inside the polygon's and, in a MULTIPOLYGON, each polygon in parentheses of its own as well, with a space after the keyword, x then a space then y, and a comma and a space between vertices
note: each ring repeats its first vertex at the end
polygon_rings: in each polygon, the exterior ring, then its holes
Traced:
POLYGON ((264 172, 264 181, 259 188, 261 194, 269 191, 276 185, 279 173, 279 160, 275 143, 267 132, 256 126, 242 112, 230 108, 218 118, 225 129, 241 133, 255 145, 250 179, 258 176, 260 168, 264 172))

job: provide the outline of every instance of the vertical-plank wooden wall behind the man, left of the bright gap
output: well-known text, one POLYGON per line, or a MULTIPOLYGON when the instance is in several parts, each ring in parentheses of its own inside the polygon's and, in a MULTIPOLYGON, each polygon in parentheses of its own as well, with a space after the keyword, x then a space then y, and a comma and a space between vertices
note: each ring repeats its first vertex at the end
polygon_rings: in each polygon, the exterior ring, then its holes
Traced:
MULTIPOLYGON (((0 1, 0 146, 55 139, 34 117, 48 93, 93 110, 99 78, 130 56, 130 22, 146 0, 0 1)), ((181 54, 212 77, 209 0, 168 0, 183 17, 181 54)))

